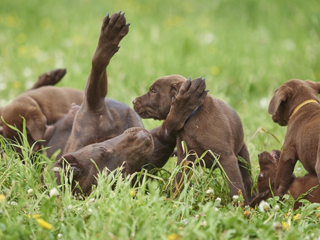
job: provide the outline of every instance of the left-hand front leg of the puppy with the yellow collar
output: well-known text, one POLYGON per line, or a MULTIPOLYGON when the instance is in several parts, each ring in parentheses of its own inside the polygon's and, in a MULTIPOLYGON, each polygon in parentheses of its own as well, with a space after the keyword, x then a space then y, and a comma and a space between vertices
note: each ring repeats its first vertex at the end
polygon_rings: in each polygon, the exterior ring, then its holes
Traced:
POLYGON ((274 182, 274 194, 280 197, 282 197, 288 189, 294 165, 297 160, 295 149, 288 145, 289 144, 283 146, 274 182))

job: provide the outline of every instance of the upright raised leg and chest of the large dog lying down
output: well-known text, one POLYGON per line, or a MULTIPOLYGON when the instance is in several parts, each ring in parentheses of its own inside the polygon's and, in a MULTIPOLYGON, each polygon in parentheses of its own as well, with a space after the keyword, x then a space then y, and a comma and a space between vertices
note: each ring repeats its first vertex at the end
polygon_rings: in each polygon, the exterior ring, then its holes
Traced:
POLYGON ((124 13, 104 17, 98 45, 92 57, 92 67, 84 90, 83 103, 75 113, 72 131, 64 153, 79 150, 94 142, 101 142, 120 135, 127 128, 142 127, 140 117, 125 104, 109 100, 106 67, 118 51, 120 40, 128 33, 124 13))

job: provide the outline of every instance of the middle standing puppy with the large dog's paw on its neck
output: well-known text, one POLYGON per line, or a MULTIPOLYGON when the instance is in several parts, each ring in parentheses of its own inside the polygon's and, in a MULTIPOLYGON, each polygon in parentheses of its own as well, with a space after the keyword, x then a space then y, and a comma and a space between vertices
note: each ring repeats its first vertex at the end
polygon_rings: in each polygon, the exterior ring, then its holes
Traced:
MULTIPOLYGON (((191 83, 190 79, 187 80, 180 75, 160 77, 150 86, 147 93, 133 100, 134 110, 142 118, 165 119, 181 84, 185 81, 191 83)), ((205 88, 204 78, 196 78, 193 81, 202 81, 202 87, 205 88)), ((177 112, 181 112, 181 115, 177 114, 176 119, 184 119, 184 109, 177 112)), ((194 150, 198 156, 208 149, 211 150, 219 155, 219 161, 230 179, 230 197, 238 194, 240 189, 245 203, 249 203, 252 180, 246 165, 250 166, 250 159, 243 140, 242 123, 237 113, 223 101, 206 95, 204 102, 185 119, 176 137, 177 164, 185 158, 180 144, 182 140, 186 142, 188 149, 194 150), (236 155, 241 156, 246 161, 245 164, 239 161, 236 155)), ((187 160, 194 161, 195 157, 188 156, 187 160)), ((206 154, 203 160, 206 167, 211 167, 214 162, 210 154, 206 154)), ((182 174, 177 174, 175 180, 180 185, 181 179, 182 174)))

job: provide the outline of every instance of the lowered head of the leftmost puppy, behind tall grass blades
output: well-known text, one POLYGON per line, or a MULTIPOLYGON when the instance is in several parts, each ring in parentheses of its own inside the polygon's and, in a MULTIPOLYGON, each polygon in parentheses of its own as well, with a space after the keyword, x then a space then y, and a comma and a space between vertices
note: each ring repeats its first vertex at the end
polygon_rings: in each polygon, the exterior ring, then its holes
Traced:
MULTIPOLYGON (((33 99, 22 97, 13 101, 3 108, 2 116, 7 124, 16 126, 20 131, 22 131, 23 125, 21 116, 25 118, 26 133, 30 145, 42 139, 46 127, 46 117, 33 99)), ((17 132, 7 124, 1 122, 4 137, 19 139, 17 132)))

